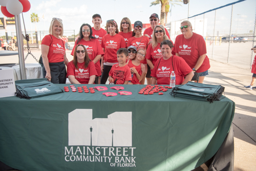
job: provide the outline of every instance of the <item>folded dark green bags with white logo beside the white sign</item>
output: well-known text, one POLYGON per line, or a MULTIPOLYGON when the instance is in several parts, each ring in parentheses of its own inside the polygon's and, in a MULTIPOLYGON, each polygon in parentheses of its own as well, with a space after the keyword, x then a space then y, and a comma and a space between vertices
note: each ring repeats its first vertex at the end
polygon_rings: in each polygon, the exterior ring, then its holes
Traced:
POLYGON ((63 93, 63 90, 46 78, 17 80, 15 87, 15 96, 26 99, 63 93))

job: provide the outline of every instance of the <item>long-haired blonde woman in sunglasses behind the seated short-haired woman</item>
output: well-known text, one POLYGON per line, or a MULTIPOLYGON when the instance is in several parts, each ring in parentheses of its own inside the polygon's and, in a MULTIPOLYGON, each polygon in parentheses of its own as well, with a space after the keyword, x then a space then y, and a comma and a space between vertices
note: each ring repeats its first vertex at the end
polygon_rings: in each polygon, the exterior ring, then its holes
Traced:
MULTIPOLYGON (((162 57, 160 44, 163 40, 168 40, 165 29, 162 25, 156 26, 152 34, 152 42, 148 45, 146 50, 146 62, 150 67, 147 69, 146 80, 148 84, 151 84, 151 71, 154 69, 157 59, 162 57)), ((171 40, 172 41, 172 40, 171 40)), ((173 43, 173 41, 172 41, 173 43)), ((175 55, 174 52, 172 54, 175 55)))

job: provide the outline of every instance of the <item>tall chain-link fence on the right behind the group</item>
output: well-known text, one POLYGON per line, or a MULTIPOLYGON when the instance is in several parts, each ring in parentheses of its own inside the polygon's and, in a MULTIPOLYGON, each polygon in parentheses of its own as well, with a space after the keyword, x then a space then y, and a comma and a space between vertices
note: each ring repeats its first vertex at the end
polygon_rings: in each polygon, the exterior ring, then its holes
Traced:
MULTIPOLYGON (((166 25, 174 41, 182 20, 166 25)), ((256 1, 247 0, 188 18, 193 32, 204 37, 207 56, 239 68, 251 68, 256 45, 256 1)))

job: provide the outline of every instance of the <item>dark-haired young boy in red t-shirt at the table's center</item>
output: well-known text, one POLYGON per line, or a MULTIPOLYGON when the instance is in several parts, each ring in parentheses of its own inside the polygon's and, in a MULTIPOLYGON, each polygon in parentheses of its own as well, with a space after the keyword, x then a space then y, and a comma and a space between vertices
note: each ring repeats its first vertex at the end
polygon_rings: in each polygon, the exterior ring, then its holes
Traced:
POLYGON ((132 81, 132 75, 130 68, 126 65, 128 59, 128 50, 126 48, 120 48, 117 51, 118 63, 113 65, 109 72, 109 81, 114 84, 127 84, 132 81))

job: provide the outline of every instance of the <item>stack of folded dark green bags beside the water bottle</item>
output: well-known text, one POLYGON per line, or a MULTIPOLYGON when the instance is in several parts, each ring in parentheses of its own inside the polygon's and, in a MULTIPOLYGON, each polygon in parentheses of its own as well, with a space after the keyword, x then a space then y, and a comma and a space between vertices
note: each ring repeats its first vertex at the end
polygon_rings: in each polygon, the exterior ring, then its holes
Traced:
POLYGON ((224 89, 225 88, 220 85, 202 84, 189 81, 182 86, 174 88, 170 95, 174 97, 177 96, 209 101, 212 103, 213 101, 221 99, 224 89))

